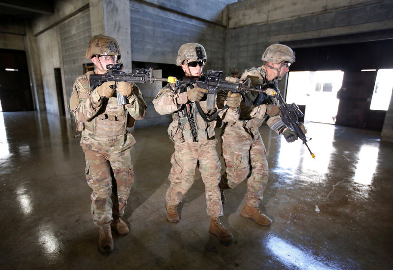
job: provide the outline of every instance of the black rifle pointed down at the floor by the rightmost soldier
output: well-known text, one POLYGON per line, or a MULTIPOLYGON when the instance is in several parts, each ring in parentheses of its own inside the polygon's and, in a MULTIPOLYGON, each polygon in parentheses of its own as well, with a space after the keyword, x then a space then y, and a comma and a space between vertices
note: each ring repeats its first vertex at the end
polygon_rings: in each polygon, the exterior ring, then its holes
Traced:
POLYGON ((299 106, 295 103, 288 105, 284 99, 281 97, 280 91, 277 87, 272 83, 269 84, 268 88, 272 88, 276 94, 274 95, 280 102, 280 110, 282 112, 282 122, 284 122, 289 128, 296 132, 296 135, 303 141, 303 144, 309 149, 312 158, 315 158, 315 155, 311 152, 307 142, 311 140, 307 140, 306 135, 303 133, 302 128, 300 127, 301 124, 298 121, 298 117, 303 117, 302 111, 299 109, 299 106))

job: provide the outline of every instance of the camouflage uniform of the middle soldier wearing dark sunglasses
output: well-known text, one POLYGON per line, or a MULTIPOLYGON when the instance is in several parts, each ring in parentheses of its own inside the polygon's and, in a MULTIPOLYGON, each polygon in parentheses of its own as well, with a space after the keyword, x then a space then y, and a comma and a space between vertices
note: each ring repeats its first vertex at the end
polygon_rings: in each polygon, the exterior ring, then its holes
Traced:
MULTIPOLYGON (((166 200, 170 205, 178 205, 183 200, 195 181, 194 174, 199 161, 199 171, 205 184, 207 214, 210 217, 219 217, 223 215, 223 205, 218 188, 221 163, 216 150, 217 140, 214 131, 216 120, 206 123, 195 107, 193 108, 194 103, 187 103, 186 87, 189 88, 189 86, 176 87, 173 83, 168 83, 153 100, 154 108, 159 114, 172 113, 173 119, 169 124, 168 134, 174 142, 175 151, 170 158, 172 168, 168 176, 170 186, 166 200), (197 141, 194 141, 190 122, 180 121, 179 111, 183 106, 196 120, 197 141)), ((199 103, 208 116, 216 111, 216 109, 206 110, 206 101, 199 103)), ((237 109, 226 109, 220 113, 220 116, 227 121, 236 121, 237 109)))

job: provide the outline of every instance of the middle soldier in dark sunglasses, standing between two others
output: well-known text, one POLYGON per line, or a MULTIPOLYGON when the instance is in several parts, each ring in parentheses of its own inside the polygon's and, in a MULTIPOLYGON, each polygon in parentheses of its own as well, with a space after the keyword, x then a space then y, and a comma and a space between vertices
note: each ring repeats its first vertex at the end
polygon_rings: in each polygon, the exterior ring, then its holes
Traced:
MULTIPOLYGON (((180 47, 176 65, 181 66, 186 77, 198 78, 202 74, 206 59, 206 51, 202 45, 187 43, 180 47)), ((196 108, 196 102, 200 101, 199 104, 206 116, 211 116, 217 110, 206 110, 206 101, 201 101, 204 93, 207 93, 206 89, 191 84, 168 83, 153 100, 154 108, 159 114, 171 113, 173 119, 168 128, 175 151, 170 159, 172 168, 168 176, 170 186, 165 205, 167 220, 172 223, 179 221, 177 205, 194 183, 199 161, 199 171, 205 184, 206 211, 210 216, 209 232, 217 235, 222 241, 229 241, 233 236, 224 228, 219 218, 223 215, 223 205, 218 187, 221 164, 216 150, 216 121, 205 122, 196 108)), ((225 101, 229 108, 222 111, 221 116, 235 121, 238 118, 237 107, 240 101, 240 95, 232 96, 229 93, 228 100, 225 101)))

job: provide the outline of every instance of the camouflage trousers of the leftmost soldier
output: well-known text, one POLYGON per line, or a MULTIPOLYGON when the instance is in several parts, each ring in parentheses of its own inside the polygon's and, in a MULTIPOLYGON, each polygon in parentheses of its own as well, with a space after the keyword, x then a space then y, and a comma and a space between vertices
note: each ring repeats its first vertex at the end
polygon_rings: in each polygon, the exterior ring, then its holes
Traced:
POLYGON ((112 217, 123 216, 130 195, 134 182, 131 151, 97 152, 86 147, 83 150, 87 184, 93 189, 90 196, 93 221, 96 225, 108 225, 112 217))

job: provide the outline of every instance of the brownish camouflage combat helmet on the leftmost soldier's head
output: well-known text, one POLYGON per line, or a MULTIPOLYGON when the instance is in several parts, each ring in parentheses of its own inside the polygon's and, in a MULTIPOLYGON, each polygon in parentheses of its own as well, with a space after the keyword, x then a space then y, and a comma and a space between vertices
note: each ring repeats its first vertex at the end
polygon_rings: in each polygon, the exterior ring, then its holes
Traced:
POLYGON ((95 55, 117 55, 120 58, 120 49, 117 41, 109 36, 93 36, 88 42, 85 56, 87 59, 90 59, 95 55))

